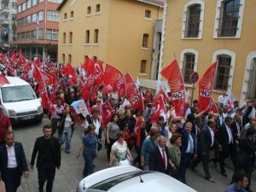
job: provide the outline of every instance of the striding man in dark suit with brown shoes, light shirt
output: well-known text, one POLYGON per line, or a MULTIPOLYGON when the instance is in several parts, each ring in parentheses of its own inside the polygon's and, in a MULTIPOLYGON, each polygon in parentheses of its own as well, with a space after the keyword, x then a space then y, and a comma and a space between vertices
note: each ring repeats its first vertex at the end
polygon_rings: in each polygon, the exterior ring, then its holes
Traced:
POLYGON ((205 126, 201 130, 200 139, 198 141, 197 158, 193 163, 193 165, 191 166, 194 169, 195 166, 197 166, 200 163, 200 161, 202 161, 206 178, 209 182, 212 182, 212 183, 214 183, 215 181, 211 177, 208 162, 210 158, 210 151, 213 148, 213 145, 218 144, 217 140, 215 139, 214 131, 213 131, 215 126, 216 126, 215 121, 213 119, 209 119, 207 121, 207 126, 205 126))

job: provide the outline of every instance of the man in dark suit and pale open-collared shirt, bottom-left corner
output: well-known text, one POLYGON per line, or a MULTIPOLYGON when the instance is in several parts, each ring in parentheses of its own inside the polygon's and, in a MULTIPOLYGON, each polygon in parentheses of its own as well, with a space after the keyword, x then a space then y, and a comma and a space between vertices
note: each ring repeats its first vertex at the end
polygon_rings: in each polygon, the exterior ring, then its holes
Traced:
POLYGON ((0 147, 0 171, 7 192, 16 192, 22 174, 28 177, 26 156, 21 143, 15 142, 15 133, 8 131, 6 144, 0 147))

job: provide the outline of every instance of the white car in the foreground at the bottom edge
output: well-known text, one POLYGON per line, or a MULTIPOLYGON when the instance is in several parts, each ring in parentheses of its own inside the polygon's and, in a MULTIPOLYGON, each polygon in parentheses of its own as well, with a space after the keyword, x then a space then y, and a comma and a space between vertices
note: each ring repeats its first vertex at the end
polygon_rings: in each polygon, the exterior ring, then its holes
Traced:
POLYGON ((142 171, 135 166, 114 166, 82 179, 77 192, 196 192, 161 172, 142 171))

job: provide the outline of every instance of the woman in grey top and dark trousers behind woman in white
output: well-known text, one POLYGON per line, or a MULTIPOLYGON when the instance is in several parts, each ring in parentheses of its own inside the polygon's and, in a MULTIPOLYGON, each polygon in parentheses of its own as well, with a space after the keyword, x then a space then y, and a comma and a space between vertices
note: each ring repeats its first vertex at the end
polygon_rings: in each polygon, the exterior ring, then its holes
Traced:
POLYGON ((108 144, 108 148, 107 148, 108 162, 110 158, 112 145, 113 143, 116 142, 117 133, 120 131, 118 122, 119 122, 119 116, 118 114, 114 114, 112 120, 107 125, 106 138, 107 138, 107 144, 108 144))

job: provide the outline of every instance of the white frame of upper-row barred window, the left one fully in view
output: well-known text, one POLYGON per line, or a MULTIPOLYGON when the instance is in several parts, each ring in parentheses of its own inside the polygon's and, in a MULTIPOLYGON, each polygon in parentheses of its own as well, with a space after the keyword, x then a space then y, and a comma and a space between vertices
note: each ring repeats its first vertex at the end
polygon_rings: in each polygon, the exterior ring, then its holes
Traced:
POLYGON ((205 15, 205 2, 203 0, 192 0, 184 5, 183 9, 183 26, 182 26, 182 39, 201 39, 203 32, 203 24, 204 24, 204 15, 205 15), (186 33, 186 25, 187 25, 187 13, 189 6, 193 4, 201 5, 201 15, 200 15, 200 25, 199 25, 199 33, 197 38, 185 38, 186 33))

